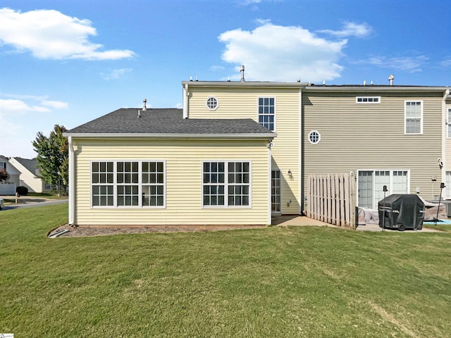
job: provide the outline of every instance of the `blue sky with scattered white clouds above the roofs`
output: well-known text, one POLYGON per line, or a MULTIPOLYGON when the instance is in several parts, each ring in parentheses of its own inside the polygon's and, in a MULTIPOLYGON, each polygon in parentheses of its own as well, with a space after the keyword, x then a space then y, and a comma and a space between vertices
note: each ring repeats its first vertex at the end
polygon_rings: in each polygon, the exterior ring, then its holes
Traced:
POLYGON ((183 80, 451 86, 448 0, 1 0, 0 154, 183 80))

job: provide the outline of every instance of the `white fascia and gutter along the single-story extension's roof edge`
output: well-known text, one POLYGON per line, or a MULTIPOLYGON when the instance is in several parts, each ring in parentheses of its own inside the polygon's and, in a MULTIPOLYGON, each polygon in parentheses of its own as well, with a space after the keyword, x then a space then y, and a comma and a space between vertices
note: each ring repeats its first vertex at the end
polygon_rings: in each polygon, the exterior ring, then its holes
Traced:
POLYGON ((145 133, 63 133, 65 137, 89 139, 273 139, 271 134, 145 134, 145 133))

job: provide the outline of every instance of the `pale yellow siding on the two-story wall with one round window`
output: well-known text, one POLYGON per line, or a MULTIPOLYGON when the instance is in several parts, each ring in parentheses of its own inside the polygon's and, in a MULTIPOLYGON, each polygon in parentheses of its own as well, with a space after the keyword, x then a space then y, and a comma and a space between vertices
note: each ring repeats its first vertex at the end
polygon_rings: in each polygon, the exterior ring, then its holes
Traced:
POLYGON ((252 118, 258 122, 258 98, 276 98, 276 129, 273 140, 272 168, 281 173, 281 213, 299 213, 299 89, 190 87, 189 118, 252 118), (206 100, 218 99, 216 111, 206 100), (292 176, 288 176, 291 170, 292 176), (291 201, 291 203, 288 203, 291 201))

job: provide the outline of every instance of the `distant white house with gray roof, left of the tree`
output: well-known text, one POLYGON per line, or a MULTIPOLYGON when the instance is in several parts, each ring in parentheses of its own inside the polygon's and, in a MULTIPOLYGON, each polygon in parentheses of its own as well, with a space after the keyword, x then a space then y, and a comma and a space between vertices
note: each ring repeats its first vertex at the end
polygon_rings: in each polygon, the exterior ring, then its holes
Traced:
POLYGON ((49 192, 53 188, 39 177, 36 158, 11 157, 9 163, 20 172, 18 187, 27 187, 29 192, 49 192))

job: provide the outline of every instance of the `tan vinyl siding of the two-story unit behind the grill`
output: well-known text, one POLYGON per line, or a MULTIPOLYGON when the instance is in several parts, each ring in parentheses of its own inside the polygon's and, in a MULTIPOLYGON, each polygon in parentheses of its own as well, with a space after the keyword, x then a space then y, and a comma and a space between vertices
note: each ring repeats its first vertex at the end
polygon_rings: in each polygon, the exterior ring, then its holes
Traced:
MULTIPOLYGON (((304 179, 311 173, 410 170, 410 192, 431 199, 440 189, 443 94, 378 94, 381 104, 356 104, 359 94, 304 93, 304 179), (423 102, 423 134, 404 134, 404 102, 423 102), (321 142, 310 144, 311 130, 321 142)), ((306 183, 304 180, 304 187, 306 183)))

